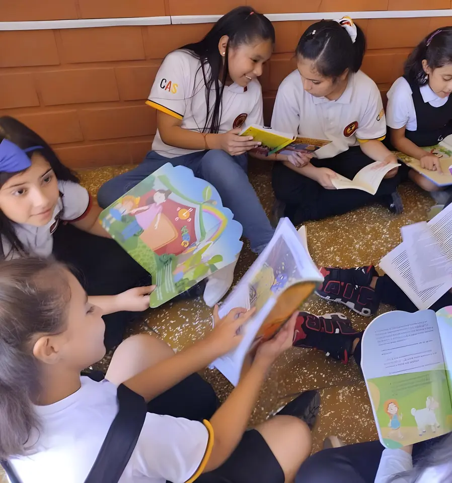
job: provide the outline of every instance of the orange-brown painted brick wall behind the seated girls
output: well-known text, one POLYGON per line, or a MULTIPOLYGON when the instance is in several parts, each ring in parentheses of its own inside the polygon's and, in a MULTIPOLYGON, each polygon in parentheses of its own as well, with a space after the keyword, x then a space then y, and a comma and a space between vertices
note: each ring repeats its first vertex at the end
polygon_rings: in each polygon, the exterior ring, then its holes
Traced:
MULTIPOLYGON (((297 12, 300 0, 253 0, 265 13, 297 12)), ((303 2, 308 4, 308 2, 303 2)), ((222 14, 243 0, 0 0, 0 20, 222 14)), ((449 9, 450 0, 311 0, 306 11, 449 9)), ((275 22, 275 53, 261 78, 265 116, 281 80, 294 68, 293 49, 312 22, 275 22)), ((452 18, 359 20, 368 51, 363 70, 385 96, 410 50, 452 18)), ((156 132, 144 105, 162 58, 201 38, 209 24, 0 32, 0 115, 41 134, 72 167, 139 162, 156 132)))

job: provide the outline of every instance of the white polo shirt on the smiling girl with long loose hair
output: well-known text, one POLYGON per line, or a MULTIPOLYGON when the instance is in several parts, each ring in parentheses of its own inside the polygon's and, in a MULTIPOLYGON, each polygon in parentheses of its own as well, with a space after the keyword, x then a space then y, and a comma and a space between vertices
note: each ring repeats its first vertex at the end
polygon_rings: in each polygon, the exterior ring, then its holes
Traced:
MULTIPOLYGON (((210 67, 207 65, 205 69, 208 77, 210 67)), ((210 113, 213 112, 214 103, 215 88, 212 86, 209 96, 210 113)), ((199 59, 182 50, 168 54, 157 72, 146 104, 181 119, 182 128, 202 132, 207 113, 205 83, 199 59)), ((262 125, 262 88, 259 81, 253 79, 246 88, 236 83, 225 85, 220 114, 220 134, 236 127, 262 125)), ((159 130, 152 149, 167 158, 203 150, 169 146, 162 141, 159 130)))

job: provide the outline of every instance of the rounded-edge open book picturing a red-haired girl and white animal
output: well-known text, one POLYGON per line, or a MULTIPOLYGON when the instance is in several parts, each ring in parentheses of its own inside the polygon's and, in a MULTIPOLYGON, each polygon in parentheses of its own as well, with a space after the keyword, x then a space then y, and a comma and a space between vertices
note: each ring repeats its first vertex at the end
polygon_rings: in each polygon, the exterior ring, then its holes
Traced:
POLYGON ((452 431, 452 307, 387 312, 362 337, 361 368, 386 448, 452 431))

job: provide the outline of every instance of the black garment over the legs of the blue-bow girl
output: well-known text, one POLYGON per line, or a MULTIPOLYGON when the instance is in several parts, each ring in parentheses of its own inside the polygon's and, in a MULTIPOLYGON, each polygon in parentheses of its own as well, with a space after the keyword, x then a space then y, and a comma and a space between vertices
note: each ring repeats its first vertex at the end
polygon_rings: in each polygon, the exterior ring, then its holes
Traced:
MULTIPOLYGON (((150 285, 149 273, 114 240, 91 235, 72 225, 62 225, 53 234, 53 255, 74 268, 88 295, 117 295, 129 288, 150 285)), ((118 345, 136 312, 116 312, 103 317, 105 347, 118 345)))

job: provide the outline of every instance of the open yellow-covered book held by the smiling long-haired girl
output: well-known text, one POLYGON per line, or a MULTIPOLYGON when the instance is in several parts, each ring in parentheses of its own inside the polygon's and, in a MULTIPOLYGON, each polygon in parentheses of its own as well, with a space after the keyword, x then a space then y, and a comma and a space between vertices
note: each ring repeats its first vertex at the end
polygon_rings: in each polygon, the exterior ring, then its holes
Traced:
POLYGON ((252 149, 251 152, 268 156, 269 154, 284 154, 288 156, 291 152, 313 154, 323 146, 331 143, 322 139, 300 138, 287 133, 275 131, 272 128, 252 124, 242 130, 240 136, 253 136, 255 141, 262 144, 252 149))

